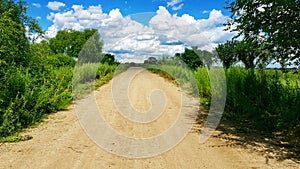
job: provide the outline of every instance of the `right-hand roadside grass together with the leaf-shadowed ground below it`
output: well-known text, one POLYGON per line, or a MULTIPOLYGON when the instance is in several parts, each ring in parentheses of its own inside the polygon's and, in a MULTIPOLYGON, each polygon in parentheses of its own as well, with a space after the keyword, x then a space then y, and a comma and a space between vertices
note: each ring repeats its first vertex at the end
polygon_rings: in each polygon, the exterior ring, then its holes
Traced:
MULTIPOLYGON (((184 82, 184 70, 176 65, 147 66, 171 82, 184 82), (166 71, 167 70, 167 71, 166 71), (180 80, 175 80, 180 77, 180 80)), ((217 70, 217 69, 215 69, 217 70)), ((217 75, 216 73, 215 75, 217 75)), ((193 71, 200 103, 210 108, 212 70, 193 71)), ((218 130, 238 145, 251 146, 261 153, 273 152, 277 159, 300 160, 300 75, 297 71, 283 74, 279 70, 251 70, 232 67, 225 70, 227 90, 225 112, 218 130), (230 135, 237 136, 229 138, 230 135), (238 138, 238 139, 237 139, 238 138), (260 149, 260 150, 258 150, 260 149)), ((218 89, 218 86, 215 86, 218 89)), ((198 121, 206 115, 199 114, 198 121)))

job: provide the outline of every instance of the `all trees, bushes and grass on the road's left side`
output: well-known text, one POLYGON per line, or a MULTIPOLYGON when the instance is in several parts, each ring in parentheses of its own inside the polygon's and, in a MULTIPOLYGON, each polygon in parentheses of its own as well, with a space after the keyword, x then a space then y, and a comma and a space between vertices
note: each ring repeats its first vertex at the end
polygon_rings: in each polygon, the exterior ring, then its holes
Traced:
POLYGON ((100 34, 93 29, 62 30, 56 37, 36 43, 44 32, 35 19, 26 16, 23 1, 1 1, 0 32, 0 141, 23 140, 18 133, 24 128, 68 108, 77 97, 72 93, 76 60, 84 58, 80 55, 91 56, 88 50, 81 50, 88 40, 95 42, 96 58, 80 61, 94 64, 97 71, 93 77, 84 74, 89 73, 88 66, 80 72, 88 80, 96 78, 96 87, 108 82, 119 64, 113 55, 101 52, 100 34))

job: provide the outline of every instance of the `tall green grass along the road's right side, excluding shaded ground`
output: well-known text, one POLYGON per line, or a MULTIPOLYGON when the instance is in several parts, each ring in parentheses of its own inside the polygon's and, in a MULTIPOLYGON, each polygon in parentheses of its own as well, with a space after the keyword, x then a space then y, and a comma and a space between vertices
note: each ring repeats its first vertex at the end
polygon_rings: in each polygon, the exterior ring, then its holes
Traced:
POLYGON ((201 105, 206 108, 210 106, 213 91, 217 97, 226 96, 224 119, 241 124, 247 121, 249 128, 268 132, 300 129, 300 76, 297 73, 283 75, 279 70, 232 67, 225 71, 226 82, 220 78, 222 81, 213 85, 210 78, 218 81, 219 77, 214 76, 222 73, 221 68, 198 68, 190 78, 180 66, 163 67, 152 66, 150 70, 171 80, 179 77, 179 83, 194 78, 201 105), (222 91, 218 94, 218 90, 222 90, 218 85, 224 87, 222 83, 226 85, 223 96, 222 91))

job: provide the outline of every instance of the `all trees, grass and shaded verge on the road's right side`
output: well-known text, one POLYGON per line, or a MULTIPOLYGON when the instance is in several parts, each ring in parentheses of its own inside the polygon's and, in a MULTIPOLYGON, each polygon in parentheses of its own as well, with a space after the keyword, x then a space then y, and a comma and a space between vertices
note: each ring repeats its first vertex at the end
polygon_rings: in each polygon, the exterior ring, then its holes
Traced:
MULTIPOLYGON (((235 141, 244 146, 264 144, 264 153, 276 151, 280 159, 299 160, 299 7, 299 1, 294 0, 229 0, 226 8, 232 16, 227 28, 236 31, 236 37, 212 52, 191 47, 169 58, 145 63, 171 64, 173 68, 169 69, 174 71, 180 71, 178 67, 186 63, 194 74, 205 108, 211 101, 209 72, 223 66, 227 96, 219 129, 238 136, 235 141), (280 67, 267 68, 275 64, 280 67)), ((153 67, 151 71, 174 79, 153 67)))

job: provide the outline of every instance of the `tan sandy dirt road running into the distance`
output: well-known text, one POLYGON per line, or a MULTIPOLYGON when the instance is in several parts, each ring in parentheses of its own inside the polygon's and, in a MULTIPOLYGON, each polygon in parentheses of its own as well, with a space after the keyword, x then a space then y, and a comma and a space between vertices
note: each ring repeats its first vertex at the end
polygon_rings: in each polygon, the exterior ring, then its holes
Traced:
MULTIPOLYGON (((119 76, 122 76, 119 75, 119 76)), ((148 98, 153 89, 161 89, 166 97, 165 112, 149 124, 130 122, 121 116, 112 100, 112 82, 95 91, 97 104, 106 122, 122 135, 134 138, 155 136, 168 129, 179 114, 180 89, 158 75, 148 71, 135 76, 129 87, 129 99, 139 112, 147 112, 148 98)), ((262 155, 239 147, 227 146, 222 140, 211 137, 199 144, 199 125, 178 145, 160 155, 130 159, 117 156, 100 148, 82 129, 74 106, 67 111, 49 115, 45 121, 24 134, 33 138, 19 143, 0 146, 0 168, 297 168, 289 161, 268 160, 262 155)), ((114 142, 114 141, 112 141, 114 142)))

